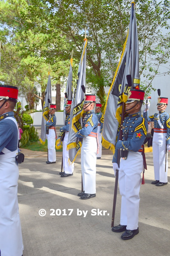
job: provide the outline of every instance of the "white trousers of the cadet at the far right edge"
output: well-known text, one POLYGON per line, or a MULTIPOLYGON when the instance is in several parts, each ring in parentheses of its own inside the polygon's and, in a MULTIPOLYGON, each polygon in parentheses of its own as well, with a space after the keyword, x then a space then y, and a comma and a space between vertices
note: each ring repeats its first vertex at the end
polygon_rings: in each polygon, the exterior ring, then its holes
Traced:
POLYGON ((155 180, 160 182, 167 182, 168 161, 166 159, 165 172, 165 158, 166 158, 166 133, 154 132, 152 149, 153 149, 153 166, 155 173, 155 180))

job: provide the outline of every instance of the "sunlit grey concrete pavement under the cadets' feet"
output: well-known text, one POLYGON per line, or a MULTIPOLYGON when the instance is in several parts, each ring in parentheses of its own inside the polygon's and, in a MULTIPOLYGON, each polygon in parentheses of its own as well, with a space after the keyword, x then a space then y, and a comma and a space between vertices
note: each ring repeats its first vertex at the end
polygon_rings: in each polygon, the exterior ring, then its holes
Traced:
MULTIPOLYGON (((25 161, 19 165, 18 201, 24 256, 170 255, 170 170, 168 185, 152 185, 152 152, 146 153, 148 170, 140 189, 139 234, 128 241, 111 231, 115 178, 109 150, 103 150, 102 159, 97 160, 96 197, 88 200, 77 196, 81 190, 80 156, 74 175, 61 178, 62 152, 56 153, 56 164, 50 165, 44 152, 22 152, 25 161), (40 209, 46 210, 44 217, 39 215, 40 209), (94 213, 97 209, 107 212, 92 215, 92 209, 96 209, 94 213), (88 211, 86 216, 82 211, 88 211)), ((118 191, 115 225, 119 224, 120 200, 118 191)))

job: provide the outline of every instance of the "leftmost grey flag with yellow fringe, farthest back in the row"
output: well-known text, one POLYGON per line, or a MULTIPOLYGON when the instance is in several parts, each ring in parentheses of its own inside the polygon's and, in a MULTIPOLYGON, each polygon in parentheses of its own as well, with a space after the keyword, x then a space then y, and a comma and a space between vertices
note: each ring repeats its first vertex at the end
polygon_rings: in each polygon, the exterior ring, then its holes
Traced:
POLYGON ((46 141, 46 122, 49 118, 49 107, 51 103, 51 77, 50 73, 48 72, 48 82, 46 86, 45 98, 43 103, 43 115, 42 115, 42 122, 41 122, 41 136, 40 142, 44 145, 46 141))

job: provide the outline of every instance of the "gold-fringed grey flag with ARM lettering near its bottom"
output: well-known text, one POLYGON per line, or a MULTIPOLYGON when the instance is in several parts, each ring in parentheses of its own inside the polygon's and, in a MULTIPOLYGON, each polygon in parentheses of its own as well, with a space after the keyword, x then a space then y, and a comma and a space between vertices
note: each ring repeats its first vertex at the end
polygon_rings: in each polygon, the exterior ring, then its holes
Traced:
POLYGON ((74 97, 71 103, 70 126, 68 132, 67 150, 69 150, 70 162, 74 162, 76 156, 80 153, 81 138, 75 137, 75 133, 82 128, 82 116, 84 113, 83 102, 86 88, 86 51, 87 39, 84 39, 83 50, 79 63, 77 86, 74 91, 74 97))

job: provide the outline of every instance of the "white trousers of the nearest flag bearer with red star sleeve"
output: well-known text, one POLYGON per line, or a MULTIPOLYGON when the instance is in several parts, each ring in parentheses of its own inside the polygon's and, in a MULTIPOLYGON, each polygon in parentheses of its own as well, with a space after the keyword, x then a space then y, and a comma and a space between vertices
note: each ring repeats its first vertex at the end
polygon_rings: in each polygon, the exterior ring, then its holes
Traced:
POLYGON ((126 229, 138 228, 139 190, 141 172, 143 170, 143 157, 141 152, 128 152, 126 160, 121 158, 119 168, 119 189, 122 196, 120 224, 126 229))

